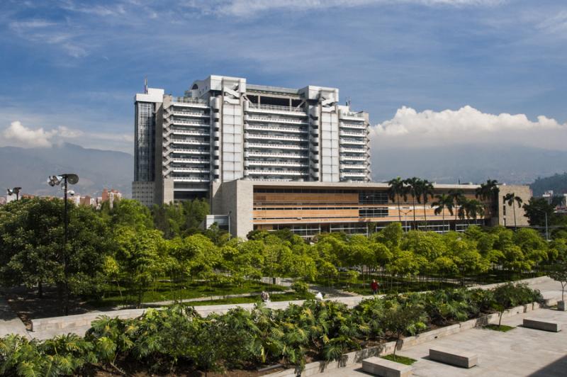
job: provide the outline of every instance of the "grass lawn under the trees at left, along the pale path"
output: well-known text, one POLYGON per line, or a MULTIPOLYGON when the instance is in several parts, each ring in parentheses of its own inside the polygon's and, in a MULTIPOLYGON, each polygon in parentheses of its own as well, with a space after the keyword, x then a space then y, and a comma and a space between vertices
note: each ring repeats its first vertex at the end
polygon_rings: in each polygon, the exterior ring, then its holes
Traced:
MULTIPOLYGON (((203 281, 191 281, 183 283, 172 283, 169 281, 157 281, 144 293, 142 303, 153 303, 157 301, 182 300, 187 298, 203 298, 211 296, 228 296, 243 293, 258 293, 262 291, 287 291, 289 288, 276 286, 274 284, 260 283, 258 281, 245 281, 241 286, 231 284, 209 284, 203 281)), ((272 296, 272 295, 270 295, 272 296)), ((274 295, 275 296, 275 295, 274 295)), ((259 297, 259 296, 258 296, 259 297)), ((135 293, 128 289, 122 289, 122 297, 115 286, 103 294, 102 298, 90 300, 89 304, 94 307, 111 307, 117 305, 128 305, 135 302, 135 293)), ((254 302, 247 301, 247 302, 254 302)))

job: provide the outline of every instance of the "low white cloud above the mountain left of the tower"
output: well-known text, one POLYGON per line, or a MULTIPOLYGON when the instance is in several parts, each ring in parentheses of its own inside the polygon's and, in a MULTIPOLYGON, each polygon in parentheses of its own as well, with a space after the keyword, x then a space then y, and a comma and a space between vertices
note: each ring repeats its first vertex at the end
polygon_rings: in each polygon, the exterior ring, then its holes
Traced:
POLYGON ((79 142, 79 144, 84 147, 100 147, 99 142, 103 144, 105 142, 115 142, 122 147, 121 144, 131 145, 133 143, 133 135, 121 133, 86 133, 82 130, 75 130, 64 125, 60 125, 52 130, 44 130, 43 128, 32 129, 26 127, 18 120, 12 122, 0 133, 0 145, 10 145, 12 147, 51 147, 54 144, 60 144, 66 141, 79 142))

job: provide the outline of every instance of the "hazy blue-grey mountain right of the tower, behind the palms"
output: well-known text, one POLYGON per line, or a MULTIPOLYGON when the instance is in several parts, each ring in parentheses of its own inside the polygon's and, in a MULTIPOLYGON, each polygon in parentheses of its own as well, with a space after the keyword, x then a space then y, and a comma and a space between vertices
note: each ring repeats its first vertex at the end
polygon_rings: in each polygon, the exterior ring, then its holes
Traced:
POLYGON ((420 176, 439 183, 481 182, 498 179, 507 184, 529 184, 539 176, 566 169, 567 152, 533 147, 452 145, 411 149, 371 150, 372 177, 420 176))

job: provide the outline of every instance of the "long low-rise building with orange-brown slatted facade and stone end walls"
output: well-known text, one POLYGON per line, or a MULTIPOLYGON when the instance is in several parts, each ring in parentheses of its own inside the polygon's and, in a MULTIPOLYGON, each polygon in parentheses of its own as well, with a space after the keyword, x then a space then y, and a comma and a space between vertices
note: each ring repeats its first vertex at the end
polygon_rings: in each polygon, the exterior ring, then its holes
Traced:
MULTIPOLYGON (((461 190, 468 199, 476 198, 472 184, 436 184, 434 194, 461 190)), ((321 232, 368 234, 401 222, 406 229, 446 232, 463 231, 471 225, 514 226, 512 208, 503 206, 502 197, 514 192, 524 202, 529 201, 528 186, 500 186, 498 203, 485 202, 484 213, 459 217, 459 206, 436 213, 432 201, 413 203, 400 198, 391 201, 388 184, 356 182, 278 182, 239 179, 213 184, 211 221, 225 215, 230 233, 246 237, 252 230, 289 229, 303 237, 321 232)), ((518 226, 528 225, 523 208, 515 208, 518 226)), ((207 226, 210 223, 206 224, 207 226)))

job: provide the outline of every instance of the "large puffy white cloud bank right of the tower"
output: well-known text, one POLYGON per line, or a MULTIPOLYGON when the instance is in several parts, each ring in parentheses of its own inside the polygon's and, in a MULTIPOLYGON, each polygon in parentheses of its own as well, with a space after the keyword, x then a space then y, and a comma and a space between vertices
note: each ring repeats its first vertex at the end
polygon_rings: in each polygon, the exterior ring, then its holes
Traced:
POLYGON ((447 135, 448 133, 493 133, 505 130, 554 130, 566 129, 567 124, 560 124, 555 119, 538 116, 532 121, 524 114, 499 115, 483 113, 471 106, 459 110, 432 111, 420 113, 403 106, 395 116, 374 127, 376 135, 447 135))

